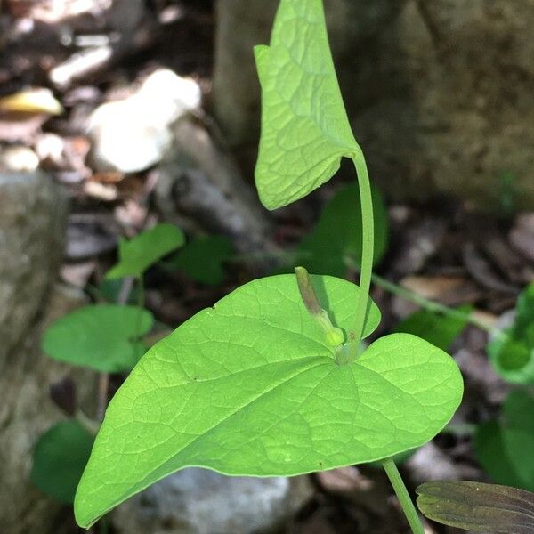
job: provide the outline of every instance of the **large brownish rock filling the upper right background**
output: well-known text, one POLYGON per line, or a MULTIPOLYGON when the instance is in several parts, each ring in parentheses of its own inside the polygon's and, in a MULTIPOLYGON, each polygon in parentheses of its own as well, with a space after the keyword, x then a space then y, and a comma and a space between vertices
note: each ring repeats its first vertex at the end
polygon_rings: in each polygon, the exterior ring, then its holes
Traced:
POLYGON ((354 127, 386 190, 497 207, 512 173, 518 206, 534 205, 533 28, 532 0, 406 4, 374 44, 387 69, 355 81, 375 86, 354 127))

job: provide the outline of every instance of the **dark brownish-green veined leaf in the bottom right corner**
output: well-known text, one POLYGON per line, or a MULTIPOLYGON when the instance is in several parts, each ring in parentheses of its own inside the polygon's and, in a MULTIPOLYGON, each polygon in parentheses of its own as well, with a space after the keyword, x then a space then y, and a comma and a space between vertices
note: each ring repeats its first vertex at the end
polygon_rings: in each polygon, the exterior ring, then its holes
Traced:
POLYGON ((470 532, 533 534, 534 494, 481 482, 434 481, 417 488, 417 506, 436 522, 470 532))

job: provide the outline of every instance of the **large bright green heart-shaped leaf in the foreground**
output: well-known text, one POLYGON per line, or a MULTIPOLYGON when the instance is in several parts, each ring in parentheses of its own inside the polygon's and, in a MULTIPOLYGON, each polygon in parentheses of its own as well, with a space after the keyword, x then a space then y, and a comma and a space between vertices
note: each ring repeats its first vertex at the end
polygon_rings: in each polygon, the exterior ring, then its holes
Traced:
MULTIPOLYGON (((345 336, 359 288, 312 277, 345 336)), ((365 334, 379 322, 369 307, 365 334)), ((413 449, 447 424, 458 368, 415 336, 386 336, 350 365, 306 310, 295 276, 250 282, 140 361, 111 401, 77 490, 82 526, 182 467, 295 475, 413 449)))

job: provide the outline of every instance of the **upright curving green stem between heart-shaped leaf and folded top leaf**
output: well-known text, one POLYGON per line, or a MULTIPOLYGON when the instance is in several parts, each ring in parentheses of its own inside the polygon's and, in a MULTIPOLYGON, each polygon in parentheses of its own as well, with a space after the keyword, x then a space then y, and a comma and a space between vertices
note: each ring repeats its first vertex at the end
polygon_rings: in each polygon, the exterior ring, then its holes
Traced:
POLYGON ((357 354, 360 351, 360 341, 368 315, 369 290, 371 276, 373 274, 373 256, 375 247, 375 223, 373 218, 373 198, 369 183, 368 168, 361 152, 353 157, 358 185, 360 188, 361 204, 361 263, 360 263, 360 296, 356 307, 356 320, 354 322, 354 338, 351 340, 351 352, 357 354))

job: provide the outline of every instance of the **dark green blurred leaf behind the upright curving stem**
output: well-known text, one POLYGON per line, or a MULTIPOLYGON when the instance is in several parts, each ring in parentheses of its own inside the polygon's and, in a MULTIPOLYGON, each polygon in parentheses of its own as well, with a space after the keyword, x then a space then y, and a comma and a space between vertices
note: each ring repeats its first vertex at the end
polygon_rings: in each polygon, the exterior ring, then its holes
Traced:
MULTIPOLYGON (((375 220, 375 257, 379 263, 388 247, 389 222, 384 199, 373 189, 375 220)), ((360 190, 354 182, 336 192, 325 206, 315 228, 296 248, 296 264, 310 272, 344 277, 346 257, 360 263, 361 258, 360 190)))

